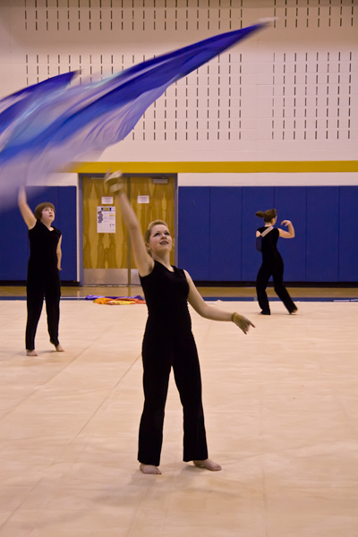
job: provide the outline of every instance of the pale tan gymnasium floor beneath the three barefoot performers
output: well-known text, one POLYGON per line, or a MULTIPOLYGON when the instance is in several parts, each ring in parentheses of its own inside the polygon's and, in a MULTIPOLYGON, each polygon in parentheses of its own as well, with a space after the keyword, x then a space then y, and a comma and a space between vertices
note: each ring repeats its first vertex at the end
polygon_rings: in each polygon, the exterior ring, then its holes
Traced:
POLYGON ((146 306, 71 300, 123 288, 64 288, 66 352, 43 315, 33 358, 24 289, 0 287, 1 537, 358 535, 358 290, 292 289, 298 314, 273 302, 270 317, 253 289, 201 291, 256 325, 244 336, 192 312, 209 456, 223 470, 183 463, 172 379, 163 474, 148 476, 136 461, 146 306))

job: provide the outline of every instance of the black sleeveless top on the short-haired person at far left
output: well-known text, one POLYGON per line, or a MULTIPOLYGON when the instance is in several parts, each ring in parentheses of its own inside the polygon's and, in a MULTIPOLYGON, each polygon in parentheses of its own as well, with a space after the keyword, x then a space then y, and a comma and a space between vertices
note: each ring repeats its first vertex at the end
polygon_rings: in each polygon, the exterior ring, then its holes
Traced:
POLYGON ((61 231, 52 226, 50 231, 41 220, 29 229, 30 259, 28 278, 43 278, 58 275, 57 246, 61 231))

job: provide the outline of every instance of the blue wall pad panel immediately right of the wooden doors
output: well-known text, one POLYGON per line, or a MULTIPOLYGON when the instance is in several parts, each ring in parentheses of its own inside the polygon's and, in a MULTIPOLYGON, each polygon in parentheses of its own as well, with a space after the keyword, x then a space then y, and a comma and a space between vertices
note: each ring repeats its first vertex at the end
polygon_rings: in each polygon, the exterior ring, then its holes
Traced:
POLYGON ((179 187, 178 260, 193 279, 209 280, 210 188, 179 187))

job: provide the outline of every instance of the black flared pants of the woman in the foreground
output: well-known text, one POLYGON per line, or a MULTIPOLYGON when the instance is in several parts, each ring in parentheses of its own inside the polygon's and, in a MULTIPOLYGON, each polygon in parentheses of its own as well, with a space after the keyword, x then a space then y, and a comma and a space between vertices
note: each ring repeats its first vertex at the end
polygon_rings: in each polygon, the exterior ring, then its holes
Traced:
POLYGON ((183 460, 205 460, 208 447, 201 402, 200 364, 192 334, 175 341, 165 330, 143 340, 144 408, 141 415, 138 460, 158 466, 163 441, 163 422, 169 374, 173 366, 175 384, 183 405, 183 460), (158 339, 158 337, 160 337, 158 339))

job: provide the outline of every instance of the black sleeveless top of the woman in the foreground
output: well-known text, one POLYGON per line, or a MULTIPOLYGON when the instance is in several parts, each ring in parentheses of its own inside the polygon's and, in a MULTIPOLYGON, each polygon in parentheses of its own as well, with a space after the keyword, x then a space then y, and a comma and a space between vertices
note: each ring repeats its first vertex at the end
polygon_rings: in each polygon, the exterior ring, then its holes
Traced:
POLYGON ((146 333, 153 332, 163 338, 192 331, 187 303, 189 284, 183 269, 173 268, 171 272, 154 261, 150 274, 140 277, 148 306, 146 333))

